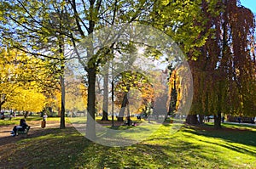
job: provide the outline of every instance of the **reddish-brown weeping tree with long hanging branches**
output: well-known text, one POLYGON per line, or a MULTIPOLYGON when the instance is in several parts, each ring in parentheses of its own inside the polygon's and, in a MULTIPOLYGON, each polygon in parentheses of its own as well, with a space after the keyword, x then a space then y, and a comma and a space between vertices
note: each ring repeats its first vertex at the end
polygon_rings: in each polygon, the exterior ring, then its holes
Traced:
POLYGON ((253 115, 256 108, 254 15, 236 0, 222 3, 222 12, 209 18, 214 31, 198 48, 198 59, 190 61, 195 88, 191 111, 214 115, 216 128, 221 127, 221 115, 253 115))

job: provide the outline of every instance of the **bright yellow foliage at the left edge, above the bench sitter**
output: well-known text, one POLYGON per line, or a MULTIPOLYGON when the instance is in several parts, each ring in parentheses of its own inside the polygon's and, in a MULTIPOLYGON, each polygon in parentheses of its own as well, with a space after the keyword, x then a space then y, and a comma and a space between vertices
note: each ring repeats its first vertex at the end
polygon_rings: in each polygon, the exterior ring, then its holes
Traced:
POLYGON ((0 48, 0 101, 3 109, 39 112, 46 97, 38 79, 44 81, 46 63, 15 49, 0 48), (36 79, 35 79, 36 78, 36 79))

